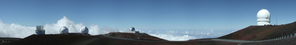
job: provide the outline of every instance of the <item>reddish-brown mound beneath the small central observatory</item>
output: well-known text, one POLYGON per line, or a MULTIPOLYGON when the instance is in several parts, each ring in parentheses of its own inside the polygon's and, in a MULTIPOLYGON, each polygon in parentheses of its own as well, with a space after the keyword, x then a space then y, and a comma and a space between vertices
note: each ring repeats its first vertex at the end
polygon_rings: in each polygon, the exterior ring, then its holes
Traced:
POLYGON ((110 32, 107 36, 121 37, 128 39, 139 39, 139 40, 155 40, 155 41, 168 41, 158 37, 150 36, 147 33, 125 33, 125 32, 110 32))

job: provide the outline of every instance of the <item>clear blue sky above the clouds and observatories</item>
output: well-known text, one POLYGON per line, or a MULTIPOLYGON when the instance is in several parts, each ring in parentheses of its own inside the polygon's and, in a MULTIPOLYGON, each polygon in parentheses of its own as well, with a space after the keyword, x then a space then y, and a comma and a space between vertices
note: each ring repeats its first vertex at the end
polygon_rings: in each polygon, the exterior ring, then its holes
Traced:
POLYGON ((74 23, 142 30, 241 30, 267 9, 271 24, 296 21, 296 0, 0 0, 0 19, 35 27, 74 23))

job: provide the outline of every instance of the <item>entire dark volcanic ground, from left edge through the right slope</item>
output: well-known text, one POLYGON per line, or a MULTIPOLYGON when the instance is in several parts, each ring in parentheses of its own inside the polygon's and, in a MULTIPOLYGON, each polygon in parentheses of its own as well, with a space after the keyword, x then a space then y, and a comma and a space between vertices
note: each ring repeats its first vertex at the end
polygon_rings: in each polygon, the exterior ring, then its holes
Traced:
POLYGON ((296 22, 277 26, 249 26, 218 37, 188 41, 167 41, 146 33, 111 32, 100 35, 44 34, 30 35, 14 42, 0 45, 295 45, 296 37, 274 41, 235 43, 213 39, 261 41, 296 33, 296 22))

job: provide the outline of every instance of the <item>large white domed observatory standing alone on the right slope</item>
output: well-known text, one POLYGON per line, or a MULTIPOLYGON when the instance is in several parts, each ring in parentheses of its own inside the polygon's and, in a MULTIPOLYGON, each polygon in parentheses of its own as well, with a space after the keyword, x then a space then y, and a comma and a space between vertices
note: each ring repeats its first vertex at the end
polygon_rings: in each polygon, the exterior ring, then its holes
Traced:
POLYGON ((257 26, 270 25, 270 13, 266 9, 261 9, 257 13, 257 26))

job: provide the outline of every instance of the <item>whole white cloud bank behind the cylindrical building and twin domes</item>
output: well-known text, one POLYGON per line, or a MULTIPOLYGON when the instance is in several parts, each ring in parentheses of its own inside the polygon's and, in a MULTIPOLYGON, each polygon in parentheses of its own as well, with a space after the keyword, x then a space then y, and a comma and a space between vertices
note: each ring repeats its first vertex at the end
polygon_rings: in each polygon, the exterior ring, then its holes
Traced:
MULTIPOLYGON (((66 16, 59 19, 57 23, 45 24, 43 29, 45 34, 59 34, 60 28, 67 27, 69 32, 80 32, 80 28, 84 27, 82 23, 75 24, 73 21, 69 20, 66 16)), ((87 26, 89 29, 89 34, 98 35, 106 34, 109 32, 116 32, 118 29, 112 29, 108 27, 99 28, 98 25, 87 26)), ((35 34, 36 27, 26 27, 19 24, 4 24, 0 19, 0 37, 15 37, 15 38, 25 38, 32 34, 35 34)))

